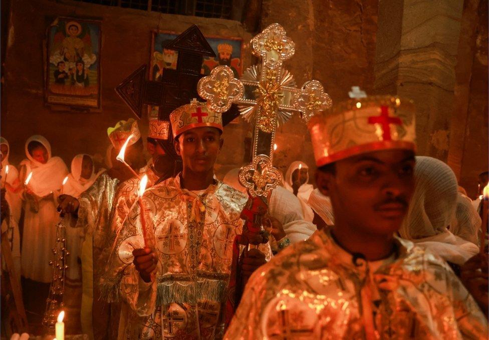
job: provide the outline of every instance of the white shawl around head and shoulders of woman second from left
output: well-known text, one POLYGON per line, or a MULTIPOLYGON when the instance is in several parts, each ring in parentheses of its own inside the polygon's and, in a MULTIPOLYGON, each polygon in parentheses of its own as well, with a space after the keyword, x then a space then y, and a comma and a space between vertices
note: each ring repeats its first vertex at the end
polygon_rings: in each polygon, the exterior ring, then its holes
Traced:
POLYGON ((21 165, 27 167, 27 173, 32 171, 29 187, 34 193, 42 197, 59 190, 64 177, 68 174, 68 168, 60 157, 51 157, 51 145, 49 141, 41 135, 33 135, 27 139, 25 150, 27 159, 24 159, 21 165), (38 162, 29 153, 28 146, 31 141, 38 141, 46 147, 48 161, 45 164, 38 162))

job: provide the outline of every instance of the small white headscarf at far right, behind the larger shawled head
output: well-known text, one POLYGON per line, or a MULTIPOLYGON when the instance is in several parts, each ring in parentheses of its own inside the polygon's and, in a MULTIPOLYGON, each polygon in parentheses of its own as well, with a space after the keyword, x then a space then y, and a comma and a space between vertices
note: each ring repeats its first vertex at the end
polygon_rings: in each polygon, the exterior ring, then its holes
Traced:
POLYGON ((479 244, 478 231, 480 230, 480 216, 472 206, 470 198, 458 193, 455 218, 450 223, 450 231, 475 245, 479 244))

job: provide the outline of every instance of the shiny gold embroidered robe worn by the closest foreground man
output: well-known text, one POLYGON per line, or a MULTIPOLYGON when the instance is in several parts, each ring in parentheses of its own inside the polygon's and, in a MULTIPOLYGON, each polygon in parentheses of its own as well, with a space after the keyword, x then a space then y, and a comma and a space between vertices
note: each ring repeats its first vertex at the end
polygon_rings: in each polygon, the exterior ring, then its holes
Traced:
POLYGON ((397 249, 354 264, 329 229, 316 231, 252 275, 224 338, 364 339, 369 323, 378 339, 486 338, 484 315, 446 262, 410 241, 397 249))

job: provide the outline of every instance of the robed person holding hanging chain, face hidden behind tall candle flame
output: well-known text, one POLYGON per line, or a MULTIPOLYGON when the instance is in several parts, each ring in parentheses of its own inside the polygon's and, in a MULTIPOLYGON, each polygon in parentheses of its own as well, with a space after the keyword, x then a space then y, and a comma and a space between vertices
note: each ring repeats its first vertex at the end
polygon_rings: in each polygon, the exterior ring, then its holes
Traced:
POLYGON ((107 129, 107 134, 114 146, 112 167, 102 173, 78 199, 61 195, 58 206, 60 213, 71 213, 77 219, 76 227, 84 229, 82 271, 84 277, 93 277, 93 281, 83 282, 81 320, 83 332, 93 334, 95 339, 117 338, 118 314, 111 318, 111 305, 100 297, 98 284, 112 245, 110 217, 115 193, 121 182, 135 177, 135 172, 146 163, 141 133, 134 119, 119 121, 107 129), (115 158, 124 145, 123 163, 115 158), (88 268, 92 266, 93 272, 89 272, 88 268))

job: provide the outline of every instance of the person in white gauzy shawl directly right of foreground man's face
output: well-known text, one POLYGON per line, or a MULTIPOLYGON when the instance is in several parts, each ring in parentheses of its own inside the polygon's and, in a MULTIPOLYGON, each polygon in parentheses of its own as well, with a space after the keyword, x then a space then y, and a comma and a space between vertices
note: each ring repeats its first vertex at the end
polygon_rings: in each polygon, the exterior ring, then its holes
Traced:
POLYGON ((417 156, 414 178, 414 194, 399 234, 450 263, 465 263, 478 247, 448 231, 458 196, 455 174, 441 160, 417 156))

